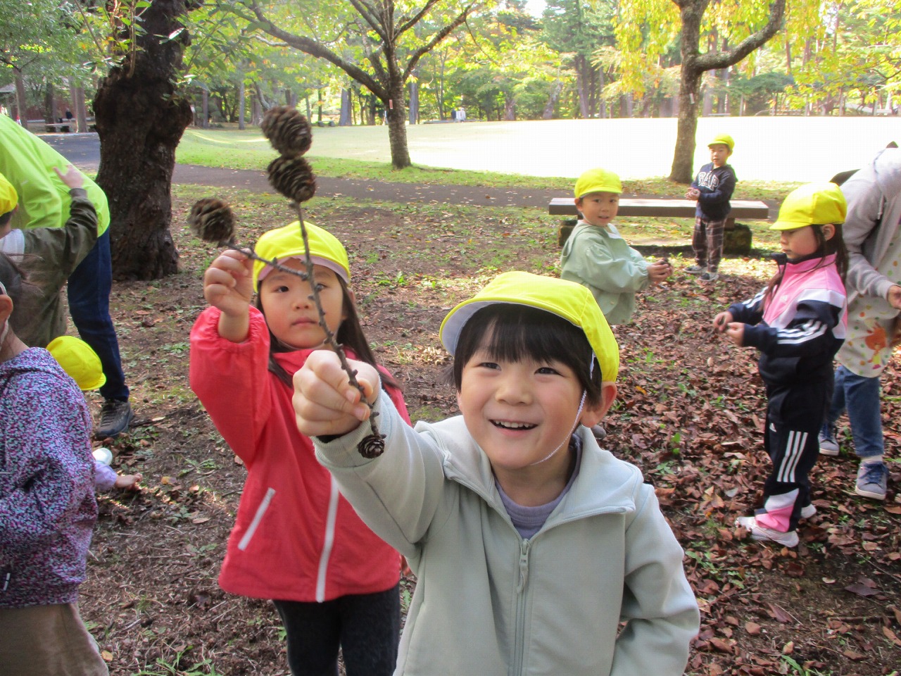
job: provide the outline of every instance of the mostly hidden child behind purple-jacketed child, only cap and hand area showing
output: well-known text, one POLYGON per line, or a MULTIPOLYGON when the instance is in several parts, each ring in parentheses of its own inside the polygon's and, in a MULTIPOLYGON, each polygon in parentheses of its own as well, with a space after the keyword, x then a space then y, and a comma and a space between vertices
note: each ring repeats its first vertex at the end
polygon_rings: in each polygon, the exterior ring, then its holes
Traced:
MULTIPOLYGON (((69 378, 82 392, 101 387, 106 377, 100 357, 91 346, 74 335, 60 335, 50 341, 47 352, 66 371, 69 378)), ((99 448, 94 451, 94 487, 98 491, 107 492, 112 489, 138 489, 141 474, 118 474, 110 467, 113 453, 99 448)))

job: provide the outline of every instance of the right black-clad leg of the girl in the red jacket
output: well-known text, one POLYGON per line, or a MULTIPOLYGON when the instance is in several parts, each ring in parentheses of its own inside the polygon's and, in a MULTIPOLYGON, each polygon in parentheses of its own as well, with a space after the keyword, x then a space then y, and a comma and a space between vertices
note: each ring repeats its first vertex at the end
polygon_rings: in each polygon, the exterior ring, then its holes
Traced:
POLYGON ((376 594, 350 594, 341 605, 341 653, 348 676, 391 676, 400 640, 399 585, 376 594))

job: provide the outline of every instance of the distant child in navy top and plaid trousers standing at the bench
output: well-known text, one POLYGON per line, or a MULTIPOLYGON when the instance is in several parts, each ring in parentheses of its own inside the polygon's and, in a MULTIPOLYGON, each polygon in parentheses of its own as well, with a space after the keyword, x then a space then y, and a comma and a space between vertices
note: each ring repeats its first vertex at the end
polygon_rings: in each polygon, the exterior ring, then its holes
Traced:
POLYGON ((716 270, 723 258, 723 227, 732 209, 729 198, 735 189, 735 171, 726 160, 732 155, 735 142, 729 134, 718 133, 707 147, 711 161, 697 172, 685 194, 688 199, 697 200, 695 232, 691 236, 695 265, 689 265, 685 271, 701 275, 701 281, 714 281, 719 277, 716 270))

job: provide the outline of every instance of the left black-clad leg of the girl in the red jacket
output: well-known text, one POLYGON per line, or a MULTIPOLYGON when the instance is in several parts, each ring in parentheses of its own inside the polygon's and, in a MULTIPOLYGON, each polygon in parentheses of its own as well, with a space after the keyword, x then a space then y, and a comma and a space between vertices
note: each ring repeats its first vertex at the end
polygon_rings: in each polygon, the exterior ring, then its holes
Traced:
POLYGON ((287 639, 287 665, 294 676, 338 676, 341 635, 338 601, 273 601, 287 639))

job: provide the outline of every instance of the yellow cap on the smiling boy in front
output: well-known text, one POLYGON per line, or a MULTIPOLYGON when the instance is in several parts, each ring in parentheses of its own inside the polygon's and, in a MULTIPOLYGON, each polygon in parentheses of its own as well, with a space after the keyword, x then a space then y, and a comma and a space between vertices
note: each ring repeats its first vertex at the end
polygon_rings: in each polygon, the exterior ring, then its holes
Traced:
POLYGON ((537 307, 578 326, 595 351, 601 367, 601 377, 614 382, 619 372, 619 345, 610 325, 597 306, 595 297, 581 284, 532 275, 530 272, 505 272, 488 282, 487 286, 469 300, 454 307, 441 322, 441 343, 453 354, 463 326, 472 315, 485 306, 496 303, 537 307))

